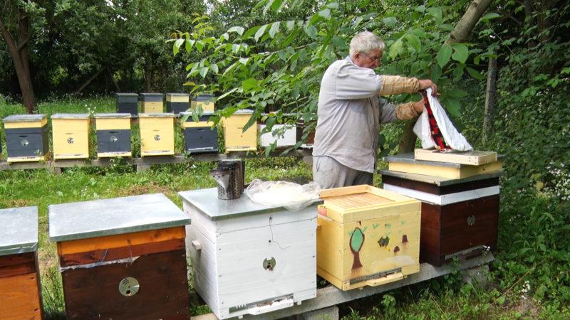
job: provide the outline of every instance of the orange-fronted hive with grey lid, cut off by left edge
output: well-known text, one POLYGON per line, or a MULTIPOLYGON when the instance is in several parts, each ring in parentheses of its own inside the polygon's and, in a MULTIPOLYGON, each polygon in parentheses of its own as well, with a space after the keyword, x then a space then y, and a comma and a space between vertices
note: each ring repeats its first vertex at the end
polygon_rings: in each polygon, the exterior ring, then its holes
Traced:
POLYGON ((42 319, 38 208, 0 210, 0 319, 42 319))

